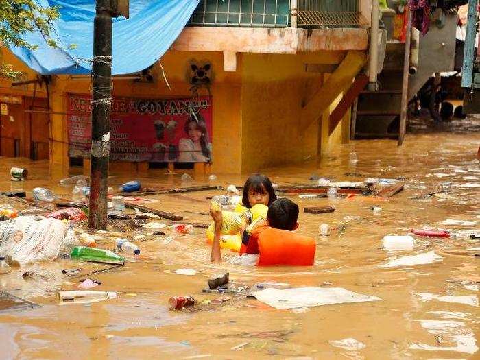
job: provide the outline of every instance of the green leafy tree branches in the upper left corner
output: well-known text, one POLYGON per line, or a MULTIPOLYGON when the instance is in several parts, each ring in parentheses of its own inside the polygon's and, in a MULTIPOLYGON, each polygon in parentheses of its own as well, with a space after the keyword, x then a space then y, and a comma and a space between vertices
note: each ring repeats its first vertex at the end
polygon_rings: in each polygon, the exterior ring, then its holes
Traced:
MULTIPOLYGON (((42 8, 36 0, 0 0, 0 42, 35 50, 38 46, 27 43, 21 35, 39 30, 49 46, 58 47, 51 38, 52 21, 57 18, 58 8, 42 8)), ((15 78, 18 74, 12 65, 0 60, 0 76, 15 78)))

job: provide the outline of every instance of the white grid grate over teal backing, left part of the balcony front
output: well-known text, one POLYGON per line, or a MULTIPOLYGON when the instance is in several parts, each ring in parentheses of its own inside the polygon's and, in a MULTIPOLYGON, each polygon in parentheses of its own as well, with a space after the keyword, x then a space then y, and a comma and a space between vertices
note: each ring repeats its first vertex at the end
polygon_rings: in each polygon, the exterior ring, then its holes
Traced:
POLYGON ((201 0, 189 25, 288 27, 289 0, 201 0))

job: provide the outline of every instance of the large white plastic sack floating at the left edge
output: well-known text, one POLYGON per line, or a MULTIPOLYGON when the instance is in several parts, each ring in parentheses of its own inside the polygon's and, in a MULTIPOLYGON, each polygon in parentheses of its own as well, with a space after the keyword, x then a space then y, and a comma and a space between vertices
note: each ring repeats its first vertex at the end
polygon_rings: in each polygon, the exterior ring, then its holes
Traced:
POLYGON ((69 221, 21 216, 0 223, 0 255, 19 263, 56 259, 69 221))

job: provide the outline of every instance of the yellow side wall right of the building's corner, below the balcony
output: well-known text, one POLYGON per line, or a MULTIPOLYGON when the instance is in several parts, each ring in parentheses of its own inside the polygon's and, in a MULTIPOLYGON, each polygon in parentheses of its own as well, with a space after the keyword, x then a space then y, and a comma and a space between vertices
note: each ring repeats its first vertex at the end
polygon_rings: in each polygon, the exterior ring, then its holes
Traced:
POLYGON ((328 136, 328 117, 321 117, 304 129, 300 110, 322 86, 324 77, 305 72, 305 64, 337 64, 344 56, 340 51, 296 56, 243 54, 242 172, 298 163, 341 143, 341 125, 328 136))

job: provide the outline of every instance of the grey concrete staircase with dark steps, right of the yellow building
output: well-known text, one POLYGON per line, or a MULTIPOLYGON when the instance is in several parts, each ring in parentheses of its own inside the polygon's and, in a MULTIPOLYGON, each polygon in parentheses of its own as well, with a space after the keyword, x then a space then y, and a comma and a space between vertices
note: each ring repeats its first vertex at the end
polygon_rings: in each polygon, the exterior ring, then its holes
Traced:
MULTIPOLYGON (((455 58, 455 15, 444 15, 442 26, 432 22, 427 35, 420 34, 418 66, 409 75, 408 99, 435 72, 452 71, 455 58)), ((412 38, 412 47, 416 41, 412 38)), ((379 91, 361 91, 357 101, 355 139, 398 139, 405 44, 387 41, 379 91)))

